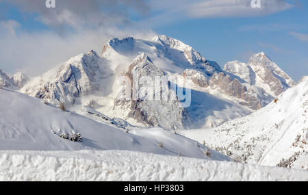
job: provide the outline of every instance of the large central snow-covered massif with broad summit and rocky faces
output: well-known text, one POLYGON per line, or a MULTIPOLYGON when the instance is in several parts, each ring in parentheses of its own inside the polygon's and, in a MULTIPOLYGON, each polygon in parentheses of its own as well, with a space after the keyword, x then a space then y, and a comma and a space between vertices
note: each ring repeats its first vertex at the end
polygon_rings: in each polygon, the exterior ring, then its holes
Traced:
MULTIPOLYGON (((272 71, 279 75, 278 67, 272 71)), ((168 36, 155 36, 153 40, 113 38, 105 43, 101 55, 90 51, 72 57, 42 76, 32 78, 21 92, 49 103, 64 103, 86 116, 89 113, 85 109, 90 107, 131 125, 164 129, 216 127, 251 114, 274 99, 264 86, 257 86, 233 72, 222 70, 216 62, 206 60, 192 47, 168 36), (181 101, 153 101, 151 94, 143 96, 142 101, 119 101, 127 85, 121 78, 128 77, 132 70, 144 77, 177 77, 177 81, 182 78, 188 86, 175 84, 191 91, 191 99, 185 99, 190 105, 180 107, 181 101)), ((271 81, 264 79, 264 82, 271 81)), ((180 97, 175 90, 172 92, 170 84, 170 81, 164 84, 169 96, 174 93, 180 97)))

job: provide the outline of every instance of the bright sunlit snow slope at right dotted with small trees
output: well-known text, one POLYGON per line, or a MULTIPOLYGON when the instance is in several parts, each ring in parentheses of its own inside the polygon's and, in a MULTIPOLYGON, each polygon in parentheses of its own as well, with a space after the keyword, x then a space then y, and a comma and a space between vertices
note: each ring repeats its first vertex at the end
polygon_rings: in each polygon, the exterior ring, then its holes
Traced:
POLYGON ((307 169, 308 78, 249 116, 181 134, 237 161, 307 169))

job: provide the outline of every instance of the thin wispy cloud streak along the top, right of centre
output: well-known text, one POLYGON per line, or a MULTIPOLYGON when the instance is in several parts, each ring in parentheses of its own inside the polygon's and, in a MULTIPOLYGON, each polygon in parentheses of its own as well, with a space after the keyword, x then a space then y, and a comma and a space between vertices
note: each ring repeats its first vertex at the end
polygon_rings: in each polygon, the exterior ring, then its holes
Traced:
MULTIPOLYGON (((252 0, 151 0, 149 7, 155 13, 141 21, 155 27, 190 18, 231 18, 264 16, 282 12, 294 5, 286 0, 260 0, 261 8, 252 8, 252 0)), ((297 2, 297 1, 296 1, 297 2)))

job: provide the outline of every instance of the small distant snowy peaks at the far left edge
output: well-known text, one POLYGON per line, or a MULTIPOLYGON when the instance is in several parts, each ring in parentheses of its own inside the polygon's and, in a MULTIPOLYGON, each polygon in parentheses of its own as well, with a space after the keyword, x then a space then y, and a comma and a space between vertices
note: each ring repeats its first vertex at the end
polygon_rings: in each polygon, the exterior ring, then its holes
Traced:
POLYGON ((12 77, 9 77, 0 69, 0 88, 22 88, 28 80, 29 78, 23 75, 23 73, 16 73, 12 77))

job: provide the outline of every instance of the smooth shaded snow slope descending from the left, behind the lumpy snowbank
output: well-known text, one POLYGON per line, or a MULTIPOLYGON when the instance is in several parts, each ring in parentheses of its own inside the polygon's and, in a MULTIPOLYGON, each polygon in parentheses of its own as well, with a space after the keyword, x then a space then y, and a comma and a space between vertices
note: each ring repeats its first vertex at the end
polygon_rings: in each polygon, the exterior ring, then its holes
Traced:
POLYGON ((0 150, 128 150, 162 155, 228 160, 201 144, 163 129, 127 131, 64 112, 40 99, 0 89, 0 150), (82 142, 62 135, 81 133, 82 142), (207 152, 211 155, 207 155, 207 152))

